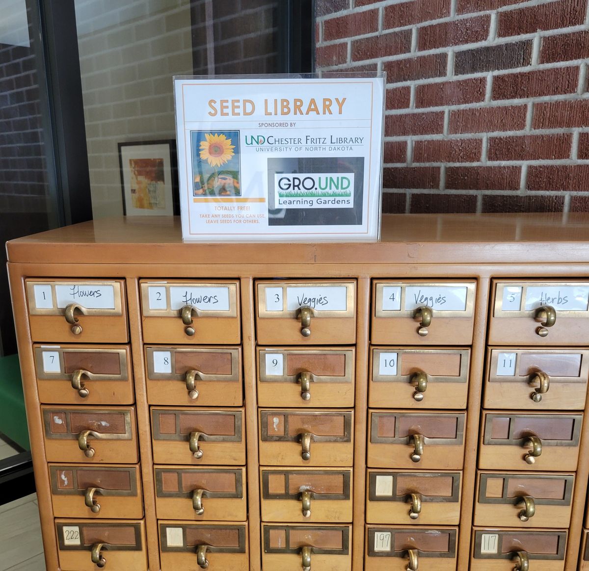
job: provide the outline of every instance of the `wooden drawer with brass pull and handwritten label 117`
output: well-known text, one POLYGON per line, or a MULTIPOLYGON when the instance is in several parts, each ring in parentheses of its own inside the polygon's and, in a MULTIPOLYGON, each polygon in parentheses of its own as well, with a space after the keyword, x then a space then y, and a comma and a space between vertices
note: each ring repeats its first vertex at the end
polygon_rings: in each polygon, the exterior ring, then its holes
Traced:
POLYGON ((526 568, 530 571, 562 571, 566 547, 567 532, 563 530, 475 528, 470 568, 471 571, 512 571, 522 569, 522 561, 527 559, 526 568))

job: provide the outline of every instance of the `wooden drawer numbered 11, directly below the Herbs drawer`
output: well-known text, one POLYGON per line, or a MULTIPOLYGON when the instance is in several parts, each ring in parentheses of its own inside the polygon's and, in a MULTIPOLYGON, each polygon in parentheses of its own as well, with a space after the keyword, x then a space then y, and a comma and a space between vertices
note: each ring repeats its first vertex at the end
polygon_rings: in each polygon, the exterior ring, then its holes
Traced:
POLYGON ((589 351, 492 348, 487 355, 488 409, 583 410, 589 351))

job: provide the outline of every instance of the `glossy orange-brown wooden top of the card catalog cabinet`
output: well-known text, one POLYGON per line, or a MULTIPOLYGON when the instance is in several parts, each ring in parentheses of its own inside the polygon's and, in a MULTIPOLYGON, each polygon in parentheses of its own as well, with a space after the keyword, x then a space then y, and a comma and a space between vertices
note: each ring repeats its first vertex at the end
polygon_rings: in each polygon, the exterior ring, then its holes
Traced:
POLYGON ((183 243, 180 217, 101 218, 7 243, 13 263, 589 263, 589 215, 389 214, 375 243, 183 243))

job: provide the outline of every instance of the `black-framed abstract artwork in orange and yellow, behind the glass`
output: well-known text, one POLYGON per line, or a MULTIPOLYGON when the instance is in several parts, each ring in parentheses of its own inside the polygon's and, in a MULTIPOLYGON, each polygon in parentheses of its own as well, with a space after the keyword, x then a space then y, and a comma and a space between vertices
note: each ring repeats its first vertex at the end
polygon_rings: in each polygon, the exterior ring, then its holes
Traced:
POLYGON ((125 216, 180 214, 176 141, 118 144, 125 216))

